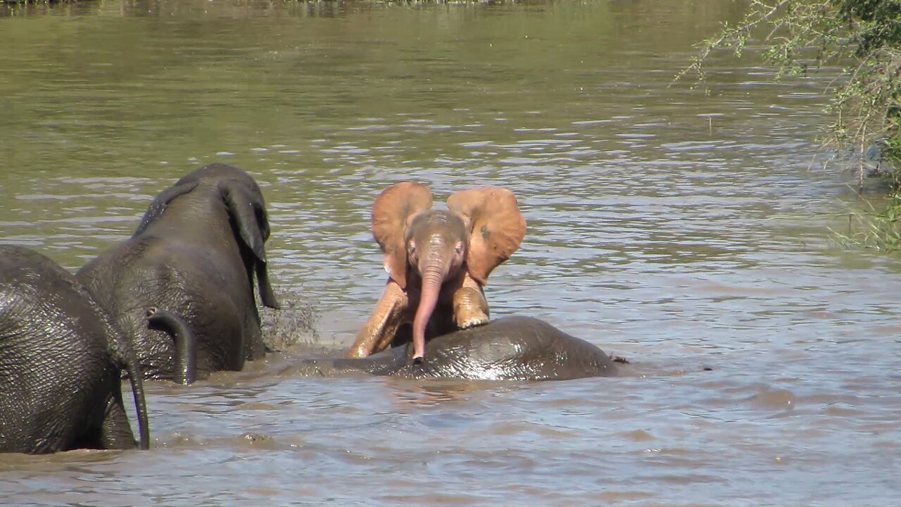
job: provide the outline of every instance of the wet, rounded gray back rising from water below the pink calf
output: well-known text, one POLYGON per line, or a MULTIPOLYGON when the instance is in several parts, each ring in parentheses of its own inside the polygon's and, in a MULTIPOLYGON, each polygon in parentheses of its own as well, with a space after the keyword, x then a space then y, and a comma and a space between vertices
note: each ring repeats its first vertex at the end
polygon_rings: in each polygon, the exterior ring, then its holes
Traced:
POLYGON ((616 374, 603 350, 532 317, 507 317, 439 336, 423 364, 393 373, 473 380, 569 380, 616 374))

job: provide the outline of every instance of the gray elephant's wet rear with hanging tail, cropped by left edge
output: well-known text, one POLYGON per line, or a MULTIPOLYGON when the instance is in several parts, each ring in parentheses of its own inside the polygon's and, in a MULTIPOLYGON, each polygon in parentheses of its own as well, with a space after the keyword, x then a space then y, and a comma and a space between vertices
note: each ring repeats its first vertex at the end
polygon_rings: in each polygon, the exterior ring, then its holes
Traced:
POLYGON ((0 246, 0 451, 135 447, 123 369, 146 449, 147 408, 129 340, 57 263, 0 246))

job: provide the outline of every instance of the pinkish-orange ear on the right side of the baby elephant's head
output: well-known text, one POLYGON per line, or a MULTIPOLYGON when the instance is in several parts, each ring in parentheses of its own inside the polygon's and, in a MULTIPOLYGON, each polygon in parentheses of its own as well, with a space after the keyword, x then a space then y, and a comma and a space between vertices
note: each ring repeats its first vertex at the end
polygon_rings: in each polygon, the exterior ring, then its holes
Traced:
POLYGON ((460 190, 448 198, 451 211, 469 226, 469 275, 485 285, 488 274, 510 258, 525 235, 525 217, 508 189, 480 187, 460 190))

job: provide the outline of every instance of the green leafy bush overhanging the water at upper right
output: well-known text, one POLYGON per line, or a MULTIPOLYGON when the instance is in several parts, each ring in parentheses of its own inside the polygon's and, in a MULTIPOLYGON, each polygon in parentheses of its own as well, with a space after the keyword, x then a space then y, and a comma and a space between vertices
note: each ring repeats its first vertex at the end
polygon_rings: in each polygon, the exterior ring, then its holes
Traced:
POLYGON ((885 211, 852 217, 862 226, 842 239, 881 249, 901 248, 901 2, 892 0, 751 0, 739 23, 726 24, 701 44, 687 71, 704 78, 716 49, 742 55, 749 41, 764 44, 764 59, 777 78, 804 75, 825 64, 842 68, 828 112, 826 149, 851 160, 864 178, 889 182, 885 211), (757 38, 755 38, 757 37, 757 38), (862 217, 862 219, 861 219, 862 217))

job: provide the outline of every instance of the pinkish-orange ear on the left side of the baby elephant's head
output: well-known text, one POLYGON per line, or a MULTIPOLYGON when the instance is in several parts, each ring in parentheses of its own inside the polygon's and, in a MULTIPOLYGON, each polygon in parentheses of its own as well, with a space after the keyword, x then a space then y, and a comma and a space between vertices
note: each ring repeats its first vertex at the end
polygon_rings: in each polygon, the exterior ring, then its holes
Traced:
POLYGON ((372 205, 372 235, 385 253, 385 271, 401 289, 406 289, 404 235, 410 220, 432 207, 432 192, 422 183, 395 183, 378 194, 372 205))

